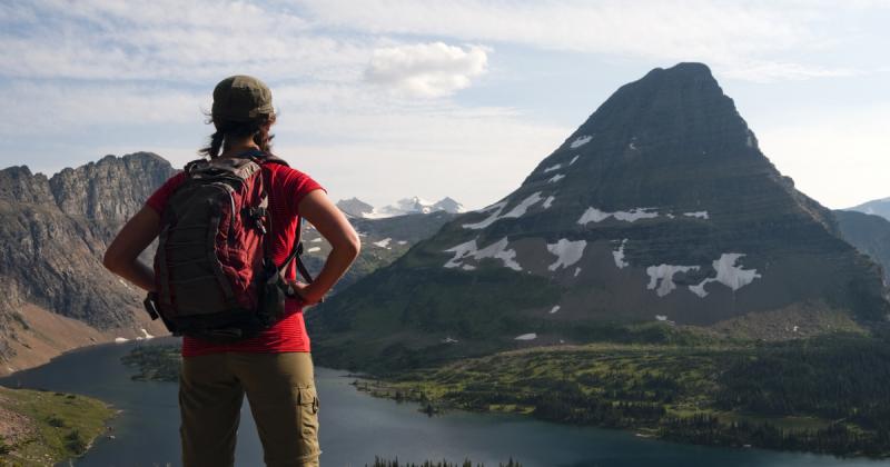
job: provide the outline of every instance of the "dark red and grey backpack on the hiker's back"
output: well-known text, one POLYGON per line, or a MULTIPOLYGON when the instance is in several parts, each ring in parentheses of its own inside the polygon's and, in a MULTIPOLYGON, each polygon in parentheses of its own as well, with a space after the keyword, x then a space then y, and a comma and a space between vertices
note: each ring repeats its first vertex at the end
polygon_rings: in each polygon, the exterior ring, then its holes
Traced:
POLYGON ((175 336, 231 344, 285 318, 285 298, 298 298, 284 278, 294 260, 312 282, 294 248, 275 265, 266 251, 270 212, 263 166, 287 165, 260 151, 196 160, 168 198, 155 255, 156 292, 146 310, 175 336))

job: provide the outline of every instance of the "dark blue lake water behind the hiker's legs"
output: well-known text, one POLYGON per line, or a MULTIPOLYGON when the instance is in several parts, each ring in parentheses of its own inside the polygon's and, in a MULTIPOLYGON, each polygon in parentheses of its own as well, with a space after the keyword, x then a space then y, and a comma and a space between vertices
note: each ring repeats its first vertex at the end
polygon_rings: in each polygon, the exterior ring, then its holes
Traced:
MULTIPOLYGON (((97 440, 73 465, 178 466, 177 385, 132 381, 132 370, 120 364, 120 357, 134 346, 170 341, 86 348, 2 378, 0 384, 83 394, 121 410, 110 421, 115 439, 97 440)), ((316 369, 325 467, 360 467, 373 463, 375 456, 415 463, 468 457, 490 467, 510 457, 525 467, 890 466, 890 461, 869 459, 681 445, 521 416, 452 411, 428 418, 416 405, 373 398, 355 390, 352 381, 344 371, 316 369)), ((263 449, 246 401, 236 456, 238 466, 263 465, 263 449)))

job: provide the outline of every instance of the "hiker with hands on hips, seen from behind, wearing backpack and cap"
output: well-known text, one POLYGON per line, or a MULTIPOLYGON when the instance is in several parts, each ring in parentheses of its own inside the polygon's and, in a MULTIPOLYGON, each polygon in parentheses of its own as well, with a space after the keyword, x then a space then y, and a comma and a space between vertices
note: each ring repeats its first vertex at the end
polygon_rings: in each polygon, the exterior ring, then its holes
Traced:
POLYGON ((152 318, 184 336, 187 467, 234 465, 245 395, 267 466, 319 463, 319 403, 303 309, 323 300, 360 242, 322 186, 270 152, 275 119, 260 80, 219 82, 205 159, 167 180, 105 254, 110 271, 149 292, 152 318), (299 260, 303 219, 332 246, 314 280, 299 260), (155 239, 150 268, 138 257, 155 239))

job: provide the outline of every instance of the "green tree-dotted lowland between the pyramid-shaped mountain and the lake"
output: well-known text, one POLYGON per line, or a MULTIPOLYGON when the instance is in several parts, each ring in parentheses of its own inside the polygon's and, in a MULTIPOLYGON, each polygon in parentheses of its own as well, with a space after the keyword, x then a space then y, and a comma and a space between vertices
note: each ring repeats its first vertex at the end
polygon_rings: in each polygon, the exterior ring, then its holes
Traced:
POLYGON ((890 345, 592 344, 508 351, 357 384, 444 408, 633 429, 680 441, 890 456, 890 345))

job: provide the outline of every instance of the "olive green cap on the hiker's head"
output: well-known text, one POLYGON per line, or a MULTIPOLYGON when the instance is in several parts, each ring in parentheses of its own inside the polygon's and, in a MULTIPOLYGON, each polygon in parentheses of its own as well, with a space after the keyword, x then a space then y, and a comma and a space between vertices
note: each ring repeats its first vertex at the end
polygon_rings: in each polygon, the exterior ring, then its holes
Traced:
POLYGON ((245 74, 228 77, 214 89, 214 108, 210 115, 215 123, 250 121, 258 116, 271 113, 275 113, 271 91, 257 78, 245 74))

